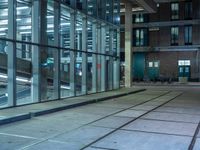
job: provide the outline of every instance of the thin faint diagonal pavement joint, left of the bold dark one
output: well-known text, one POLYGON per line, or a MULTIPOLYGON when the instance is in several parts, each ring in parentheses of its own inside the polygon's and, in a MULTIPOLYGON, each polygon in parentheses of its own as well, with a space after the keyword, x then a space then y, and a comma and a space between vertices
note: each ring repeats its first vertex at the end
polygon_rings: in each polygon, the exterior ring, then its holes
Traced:
MULTIPOLYGON (((130 108, 136 107, 136 106, 139 106, 139 105, 142 105, 142 104, 144 104, 144 103, 147 103, 147 102, 152 101, 152 100, 154 100, 154 99, 156 99, 156 98, 162 97, 162 96, 164 96, 164 95, 166 95, 166 94, 169 94, 169 93, 171 93, 171 92, 172 92, 172 91, 165 91, 164 93, 162 93, 162 94, 160 94, 160 95, 158 95, 158 96, 156 96, 156 97, 154 97, 154 98, 151 98, 151 99, 149 99, 149 100, 146 100, 146 101, 144 101, 144 102, 141 102, 140 104, 136 104, 136 105, 134 105, 134 106, 131 106, 130 108)), ((125 111, 125 110, 128 110, 128 109, 129 109, 129 108, 125 108, 125 109, 123 109, 123 110, 120 110, 119 112, 122 112, 122 111, 125 111)), ((117 114, 117 113, 119 113, 119 112, 115 112, 115 113, 117 114)), ((107 115, 107 116, 105 116, 105 117, 102 117, 102 118, 97 119, 97 120, 95 120, 95 121, 92 121, 92 122, 89 122, 89 123, 87 123, 87 124, 84 124, 84 125, 82 125, 82 126, 80 126, 80 127, 77 127, 77 128, 75 128, 75 129, 73 129, 73 130, 64 131, 64 132, 62 131, 61 133, 58 133, 58 134, 56 134, 56 135, 52 135, 52 136, 50 136, 50 137, 47 137, 46 139, 43 139, 43 140, 41 140, 41 141, 38 141, 38 142, 32 143, 32 144, 30 144, 30 145, 27 145, 27 146, 25 146, 25 147, 23 147, 23 148, 20 148, 19 150, 25 150, 25 149, 27 149, 27 148, 29 148, 29 147, 31 147, 31 146, 40 144, 40 143, 42 143, 42 142, 44 142, 44 141, 48 141, 48 140, 51 139, 51 138, 54 138, 54 137, 60 136, 60 135, 62 135, 62 134, 69 133, 69 132, 72 132, 72 131, 74 131, 74 130, 80 129, 80 128, 85 127, 85 126, 87 126, 87 125, 90 125, 90 124, 92 124, 92 123, 94 123, 94 122, 97 122, 97 121, 99 121, 99 120, 103 120, 103 119, 105 119, 105 118, 107 118, 107 117, 110 117, 110 116, 114 115, 115 113, 109 114, 109 115, 107 115)))

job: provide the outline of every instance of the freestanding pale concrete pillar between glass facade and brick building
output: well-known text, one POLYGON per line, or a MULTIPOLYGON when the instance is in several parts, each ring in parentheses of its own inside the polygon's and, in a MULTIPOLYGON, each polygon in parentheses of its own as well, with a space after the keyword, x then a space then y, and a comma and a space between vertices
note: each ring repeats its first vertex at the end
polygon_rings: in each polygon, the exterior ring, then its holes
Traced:
POLYGON ((125 5, 125 86, 132 86, 132 5, 125 5))

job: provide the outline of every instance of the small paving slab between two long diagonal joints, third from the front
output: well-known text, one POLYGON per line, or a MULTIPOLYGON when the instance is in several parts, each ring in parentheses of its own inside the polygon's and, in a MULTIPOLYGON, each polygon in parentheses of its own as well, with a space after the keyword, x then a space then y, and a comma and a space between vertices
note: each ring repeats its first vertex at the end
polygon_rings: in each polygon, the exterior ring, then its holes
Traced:
POLYGON ((132 109, 128 109, 128 110, 122 111, 120 113, 117 113, 114 116, 136 118, 136 117, 139 117, 139 116, 143 115, 146 112, 147 111, 145 111, 145 110, 132 110, 132 109))

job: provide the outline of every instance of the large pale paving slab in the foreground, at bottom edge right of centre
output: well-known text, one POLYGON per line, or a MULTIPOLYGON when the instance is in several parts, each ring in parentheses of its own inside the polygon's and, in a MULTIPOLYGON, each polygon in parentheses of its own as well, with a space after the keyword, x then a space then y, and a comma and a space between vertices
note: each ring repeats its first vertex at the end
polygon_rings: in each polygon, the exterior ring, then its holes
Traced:
POLYGON ((93 144, 118 150, 187 150, 191 137, 133 131, 117 131, 93 144))

